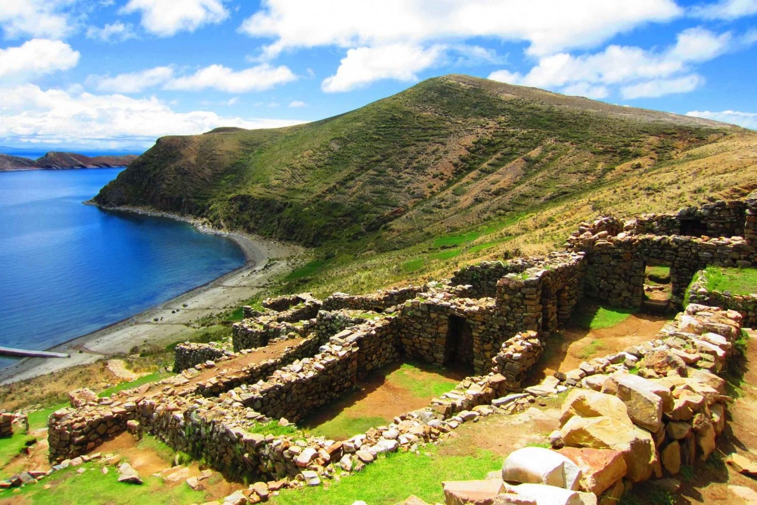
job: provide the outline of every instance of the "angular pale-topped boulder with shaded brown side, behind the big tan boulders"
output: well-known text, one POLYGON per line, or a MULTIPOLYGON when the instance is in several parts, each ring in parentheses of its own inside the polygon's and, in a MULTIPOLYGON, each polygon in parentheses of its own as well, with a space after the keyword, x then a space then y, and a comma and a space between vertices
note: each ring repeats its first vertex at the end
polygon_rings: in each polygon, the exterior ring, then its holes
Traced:
POLYGON ((659 385, 631 373, 617 374, 612 379, 618 384, 618 398, 628 408, 631 420, 650 432, 659 431, 662 426, 662 397, 655 393, 659 385))

